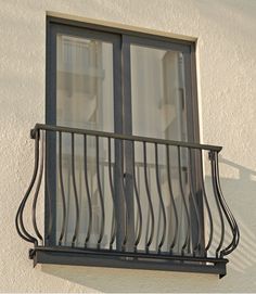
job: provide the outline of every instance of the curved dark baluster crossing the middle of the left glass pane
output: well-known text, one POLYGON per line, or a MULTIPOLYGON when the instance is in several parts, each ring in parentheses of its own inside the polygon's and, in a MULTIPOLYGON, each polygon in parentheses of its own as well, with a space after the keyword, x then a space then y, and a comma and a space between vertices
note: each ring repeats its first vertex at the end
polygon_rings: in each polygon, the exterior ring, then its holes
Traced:
POLYGON ((88 181, 88 170, 87 170, 87 136, 86 135, 84 135, 84 176, 85 176, 87 201, 88 201, 88 208, 89 208, 88 230, 87 230, 86 240, 85 240, 85 247, 87 247, 87 244, 91 235, 92 206, 91 206, 91 195, 90 195, 89 181, 88 181))

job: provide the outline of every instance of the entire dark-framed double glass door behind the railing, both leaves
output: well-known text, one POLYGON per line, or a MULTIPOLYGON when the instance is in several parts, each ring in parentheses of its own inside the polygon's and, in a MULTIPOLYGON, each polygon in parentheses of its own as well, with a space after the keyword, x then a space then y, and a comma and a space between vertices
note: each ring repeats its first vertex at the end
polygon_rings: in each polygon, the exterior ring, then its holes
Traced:
MULTIPOLYGON (((57 24, 52 25, 48 43, 47 124, 155 139, 197 139, 194 138, 191 106, 190 46, 145 36, 136 37, 125 33, 57 24)), ((151 250, 157 251, 163 223, 166 222, 168 238, 165 238, 163 250, 168 251, 170 240, 174 239, 176 215, 168 196, 165 148, 158 145, 156 156, 155 145, 152 143, 146 143, 145 149, 141 143, 135 143, 133 149, 131 141, 112 140, 112 144, 114 201, 108 180, 107 140, 99 139, 97 143, 93 136, 85 138, 71 133, 47 135, 47 174, 55 175, 46 177, 46 188, 51 195, 47 200, 46 210, 50 206, 54 210, 54 219, 49 220, 53 223, 49 244, 95 248, 104 227, 101 247, 108 248, 115 215, 114 247, 124 250, 124 240, 127 239, 125 250, 133 251, 139 220, 136 181, 143 207, 143 230, 138 250, 145 248, 154 226, 151 250), (145 174, 154 207, 154 225, 150 215, 145 174), (163 203, 157 196, 159 189, 163 203), (63 203, 66 204, 66 209, 63 203)), ((182 228, 188 227, 188 217, 185 219, 180 182, 189 207, 188 170, 192 169, 187 151, 181 148, 179 152, 178 156, 177 149, 169 148, 174 201, 181 228, 177 239, 183 240, 185 232, 182 228)), ((174 250, 180 251, 181 243, 177 242, 174 250)))

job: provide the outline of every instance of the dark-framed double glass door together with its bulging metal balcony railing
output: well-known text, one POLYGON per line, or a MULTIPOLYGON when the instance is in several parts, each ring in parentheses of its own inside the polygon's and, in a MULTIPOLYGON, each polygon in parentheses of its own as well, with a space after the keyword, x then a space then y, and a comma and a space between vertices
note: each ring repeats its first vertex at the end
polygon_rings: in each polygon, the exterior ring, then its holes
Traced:
POLYGON ((31 131, 35 172, 16 218, 35 263, 225 274, 239 230, 219 188, 221 148, 199 143, 194 43, 49 18, 47 60, 47 125, 31 131), (33 186, 37 239, 23 223, 33 186))

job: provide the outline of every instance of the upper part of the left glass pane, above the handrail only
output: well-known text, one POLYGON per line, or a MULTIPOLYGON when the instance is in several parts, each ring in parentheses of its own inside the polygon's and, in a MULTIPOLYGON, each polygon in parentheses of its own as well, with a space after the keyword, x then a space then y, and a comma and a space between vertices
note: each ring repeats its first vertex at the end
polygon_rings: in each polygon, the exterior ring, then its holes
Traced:
POLYGON ((59 35, 56 54, 56 124, 113 131, 113 44, 59 35))

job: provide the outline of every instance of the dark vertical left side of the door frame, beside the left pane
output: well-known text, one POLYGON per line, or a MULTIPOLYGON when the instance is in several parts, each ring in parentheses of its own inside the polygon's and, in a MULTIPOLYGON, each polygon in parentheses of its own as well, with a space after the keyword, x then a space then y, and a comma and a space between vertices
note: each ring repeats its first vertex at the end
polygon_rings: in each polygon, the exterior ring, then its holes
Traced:
MULTIPOLYGON (((56 125, 56 26, 47 23, 47 87, 46 87, 46 123, 56 125)), ((44 240, 47 245, 56 243, 56 142, 55 133, 46 131, 46 204, 44 204, 44 240)))

